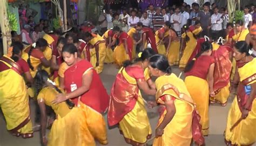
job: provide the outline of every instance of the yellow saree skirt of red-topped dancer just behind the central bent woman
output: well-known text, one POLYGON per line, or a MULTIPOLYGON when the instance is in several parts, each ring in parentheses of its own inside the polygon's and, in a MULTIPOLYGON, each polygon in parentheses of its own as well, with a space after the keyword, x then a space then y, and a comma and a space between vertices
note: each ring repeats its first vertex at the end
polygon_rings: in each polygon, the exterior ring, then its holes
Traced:
POLYGON ((125 60, 130 60, 123 43, 114 48, 113 59, 118 66, 122 66, 125 60))

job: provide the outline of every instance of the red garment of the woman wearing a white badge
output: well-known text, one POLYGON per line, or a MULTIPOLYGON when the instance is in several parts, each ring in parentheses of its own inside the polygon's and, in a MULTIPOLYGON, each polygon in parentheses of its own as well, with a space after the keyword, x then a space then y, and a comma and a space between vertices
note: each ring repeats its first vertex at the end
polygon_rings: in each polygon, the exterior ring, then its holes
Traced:
MULTIPOLYGON (((95 109, 99 113, 106 111, 109 105, 109 95, 107 95, 106 89, 100 80, 99 75, 93 69, 90 62, 86 60, 80 60, 75 65, 66 69, 64 72, 64 85, 67 93, 72 92, 76 88, 82 86, 82 77, 86 71, 89 69, 93 70, 93 77, 89 91, 80 95, 80 101, 85 105, 95 109), (74 89, 75 88, 75 89, 74 89)), ((73 98, 72 101, 77 105, 78 98, 73 98)))

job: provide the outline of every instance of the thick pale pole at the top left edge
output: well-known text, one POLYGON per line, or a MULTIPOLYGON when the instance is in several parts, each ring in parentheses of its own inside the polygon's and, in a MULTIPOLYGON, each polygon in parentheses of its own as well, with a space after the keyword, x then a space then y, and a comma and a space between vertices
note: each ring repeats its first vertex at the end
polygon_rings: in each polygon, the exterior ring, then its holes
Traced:
POLYGON ((3 53, 8 53, 8 48, 11 46, 11 31, 8 21, 8 13, 7 13, 7 1, 0 1, 0 23, 3 37, 3 53))

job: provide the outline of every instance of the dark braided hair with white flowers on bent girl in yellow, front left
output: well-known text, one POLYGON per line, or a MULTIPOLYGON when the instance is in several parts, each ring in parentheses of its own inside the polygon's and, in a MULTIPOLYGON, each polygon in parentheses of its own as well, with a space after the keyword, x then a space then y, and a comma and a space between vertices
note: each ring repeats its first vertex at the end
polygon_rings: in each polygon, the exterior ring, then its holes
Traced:
MULTIPOLYGON (((36 95, 38 95, 39 92, 43 89, 44 85, 48 82, 48 79, 49 79, 49 75, 45 70, 40 70, 36 73, 36 76, 35 76, 36 95)), ((52 84, 51 81, 50 83, 52 84)), ((62 91, 60 91, 60 89, 57 86, 53 84, 52 86, 59 94, 62 93, 62 91)), ((70 109, 72 109, 75 106, 75 104, 72 103, 70 100, 66 100, 65 102, 70 109)))

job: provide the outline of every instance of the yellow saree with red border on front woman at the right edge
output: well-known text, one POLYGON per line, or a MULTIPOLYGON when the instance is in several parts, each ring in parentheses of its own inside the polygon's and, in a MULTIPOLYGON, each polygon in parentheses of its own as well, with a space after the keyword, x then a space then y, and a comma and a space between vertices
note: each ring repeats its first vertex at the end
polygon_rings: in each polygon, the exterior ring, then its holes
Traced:
POLYGON ((251 145, 256 142, 256 96, 249 108, 246 119, 242 120, 232 131, 230 128, 241 118, 241 110, 245 106, 249 94, 245 92, 245 86, 256 82, 256 58, 247 62, 241 67, 238 66, 240 83, 238 85, 237 97, 234 99, 230 111, 228 112, 227 127, 225 130, 225 140, 231 144, 251 145))

